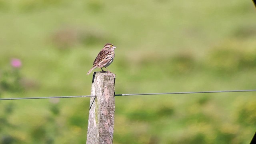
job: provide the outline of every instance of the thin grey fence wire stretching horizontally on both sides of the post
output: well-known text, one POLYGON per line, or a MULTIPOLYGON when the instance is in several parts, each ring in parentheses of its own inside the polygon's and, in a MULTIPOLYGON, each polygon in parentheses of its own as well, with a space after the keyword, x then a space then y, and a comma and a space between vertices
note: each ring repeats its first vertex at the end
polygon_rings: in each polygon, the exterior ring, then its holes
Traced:
MULTIPOLYGON (((256 90, 221 90, 203 92, 164 92, 164 93, 144 93, 144 94, 115 94, 115 96, 143 96, 143 95, 165 95, 165 94, 202 94, 202 93, 224 93, 224 92, 256 92, 256 90)), ((28 100, 28 99, 47 99, 47 98, 85 98, 96 96, 49 96, 49 97, 27 97, 27 98, 0 98, 0 100, 28 100)))

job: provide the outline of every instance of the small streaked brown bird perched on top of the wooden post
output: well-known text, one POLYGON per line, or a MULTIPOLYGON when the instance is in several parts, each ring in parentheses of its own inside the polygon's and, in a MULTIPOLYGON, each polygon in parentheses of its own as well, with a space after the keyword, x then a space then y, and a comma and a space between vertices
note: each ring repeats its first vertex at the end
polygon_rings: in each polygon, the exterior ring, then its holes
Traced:
MULTIPOLYGON (((90 74, 95 68, 101 68, 102 72, 105 72, 102 69, 103 67, 108 70, 107 66, 109 66, 114 61, 115 48, 116 46, 114 46, 113 44, 105 44, 98 56, 95 58, 93 62, 93 67, 89 70, 87 75, 90 74)), ((108 72, 110 71, 108 70, 108 72)))

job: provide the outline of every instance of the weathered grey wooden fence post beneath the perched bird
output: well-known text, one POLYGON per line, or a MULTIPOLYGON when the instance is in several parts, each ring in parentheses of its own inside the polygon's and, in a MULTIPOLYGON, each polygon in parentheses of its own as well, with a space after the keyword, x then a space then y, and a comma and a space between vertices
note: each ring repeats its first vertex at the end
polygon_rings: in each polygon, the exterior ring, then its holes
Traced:
POLYGON ((115 74, 94 72, 87 130, 87 144, 113 144, 115 74))

